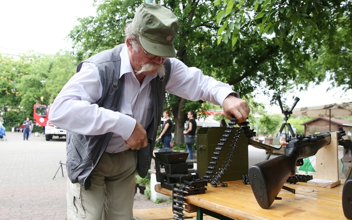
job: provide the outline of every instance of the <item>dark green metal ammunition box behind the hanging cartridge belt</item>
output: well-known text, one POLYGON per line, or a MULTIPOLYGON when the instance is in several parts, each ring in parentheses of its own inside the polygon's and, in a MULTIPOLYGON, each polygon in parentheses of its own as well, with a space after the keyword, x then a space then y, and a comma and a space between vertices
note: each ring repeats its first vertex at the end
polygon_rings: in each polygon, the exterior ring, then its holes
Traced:
MULTIPOLYGON (((237 143, 237 148, 234 151, 234 155, 229 157, 229 152, 232 148, 230 146, 234 140, 236 132, 240 128, 234 128, 230 133, 227 141, 222 147, 220 152, 219 160, 215 166, 213 174, 215 174, 219 168, 221 168, 225 162, 230 158, 229 165, 226 171, 221 175, 220 181, 230 181, 242 179, 242 175, 248 174, 248 138, 242 133, 237 143)), ((208 171, 209 162, 212 161, 211 157, 214 156, 215 148, 218 147, 222 134, 224 134, 226 128, 212 127, 212 128, 200 128, 197 132, 197 171, 201 178, 205 176, 205 172, 208 171)))

